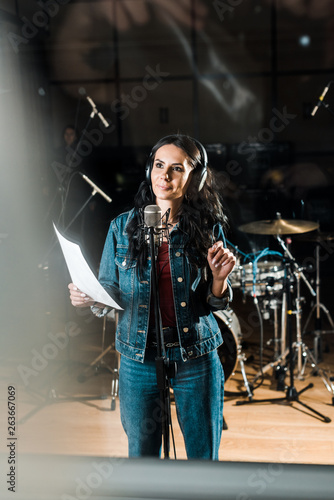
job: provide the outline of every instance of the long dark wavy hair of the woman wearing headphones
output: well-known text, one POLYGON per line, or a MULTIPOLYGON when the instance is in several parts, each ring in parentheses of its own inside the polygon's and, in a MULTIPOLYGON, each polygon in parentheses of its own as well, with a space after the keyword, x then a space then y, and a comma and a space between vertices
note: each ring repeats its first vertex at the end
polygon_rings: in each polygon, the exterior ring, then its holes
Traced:
MULTIPOLYGON (((179 211, 179 225, 181 231, 187 235, 185 238, 185 253, 191 264, 196 268, 205 267, 207 264, 207 252, 213 244, 213 227, 220 223, 222 227, 227 226, 227 217, 224 214, 222 199, 217 192, 213 171, 207 167, 207 177, 203 188, 199 191, 198 185, 202 172, 202 155, 196 142, 186 135, 174 134, 160 139, 152 148, 149 156, 149 172, 154 163, 155 153, 166 144, 174 144, 182 149, 189 163, 193 167, 193 175, 183 199, 179 211)), ((155 195, 151 184, 143 181, 134 198, 134 217, 127 226, 129 237, 128 254, 133 262, 137 259, 137 270, 146 265, 148 257, 148 245, 142 230, 142 210, 147 206, 155 204, 155 195)))

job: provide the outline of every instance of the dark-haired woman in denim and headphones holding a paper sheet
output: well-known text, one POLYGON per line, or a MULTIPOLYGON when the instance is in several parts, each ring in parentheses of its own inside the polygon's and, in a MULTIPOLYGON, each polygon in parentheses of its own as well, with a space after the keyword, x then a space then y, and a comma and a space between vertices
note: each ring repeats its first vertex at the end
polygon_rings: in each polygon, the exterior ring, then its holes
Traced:
MULTIPOLYGON (((168 230, 157 273, 166 355, 177 363, 171 379, 188 458, 218 459, 223 423, 224 374, 217 354, 223 342, 212 310, 231 299, 227 283, 235 258, 222 239, 226 219, 212 184, 204 147, 183 135, 162 138, 152 149, 135 207, 111 222, 99 281, 124 309, 116 349, 121 353, 119 396, 129 456, 159 456, 161 425, 151 306, 151 262, 142 210, 157 204, 168 230), (169 233, 169 234, 168 234, 169 233)), ((71 284, 76 307, 93 304, 71 284)))

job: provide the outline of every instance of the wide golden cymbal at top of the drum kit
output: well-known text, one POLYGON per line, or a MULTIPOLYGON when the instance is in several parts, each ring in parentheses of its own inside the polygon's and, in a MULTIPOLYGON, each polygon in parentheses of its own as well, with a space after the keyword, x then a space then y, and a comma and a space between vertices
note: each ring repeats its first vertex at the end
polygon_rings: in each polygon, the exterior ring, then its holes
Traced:
POLYGON ((319 224, 317 222, 295 219, 273 219, 273 220, 260 220, 249 222, 239 226, 238 229, 244 233, 253 234, 300 234, 307 233, 317 229, 319 224))

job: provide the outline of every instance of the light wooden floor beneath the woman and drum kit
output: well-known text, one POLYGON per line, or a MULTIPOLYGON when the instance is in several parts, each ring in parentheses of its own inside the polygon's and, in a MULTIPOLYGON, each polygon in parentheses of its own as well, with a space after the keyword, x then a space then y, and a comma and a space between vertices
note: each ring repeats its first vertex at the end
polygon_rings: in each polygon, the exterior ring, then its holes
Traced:
MULTIPOLYGON (((240 307, 238 314, 241 318, 244 314, 242 308, 246 306, 241 304, 240 307)), ((247 314, 249 317, 249 312, 247 314)), ((6 401, 7 386, 14 385, 16 388, 20 453, 127 456, 127 439, 120 422, 118 400, 115 410, 111 411, 112 374, 103 366, 97 371, 87 371, 89 363, 101 352, 102 320, 96 321, 87 322, 85 330, 71 338, 66 349, 59 348, 54 359, 48 360, 47 366, 35 369, 34 374, 27 372, 25 381, 22 367, 32 368, 31 350, 25 361, 12 358, 2 364, 1 404, 6 401), (93 328, 96 325, 98 328, 93 328), (78 377, 83 373, 86 380, 79 381, 78 377)), ((267 324, 266 335, 271 335, 272 326, 270 322, 267 324)), ((310 335, 308 340, 312 347, 313 336, 310 335)), ((44 345, 36 346, 34 354, 43 352, 45 342, 44 339, 44 345)), ((242 345, 242 353, 248 359, 245 363, 247 380, 252 382, 259 370, 258 331, 248 335, 242 345)), ((323 350, 323 360, 318 367, 332 375, 334 335, 326 336, 323 350)), ((114 359, 114 354, 109 352, 104 361, 112 365, 114 359)), ((263 363, 267 366, 273 361, 273 348, 265 345, 263 363)), ((249 398, 243 395, 245 388, 240 363, 237 364, 226 383, 224 417, 228 429, 223 431, 220 447, 222 461, 334 464, 333 393, 326 388, 322 371, 312 375, 309 361, 306 363, 305 379, 299 380, 298 373, 295 375, 297 390, 313 384, 300 396, 300 403, 252 402, 239 406, 236 404, 238 401, 249 401, 249 398), (301 403, 329 417, 332 422, 323 422, 301 403)), ((289 384, 289 377, 285 378, 285 383, 289 384)), ((277 390, 277 380, 270 368, 262 385, 254 391, 253 401, 280 398, 285 394, 285 391, 277 390)), ((185 448, 174 405, 172 416, 176 456, 184 459, 185 448)), ((5 418, 2 418, 1 427, 3 436, 6 433, 5 418)))

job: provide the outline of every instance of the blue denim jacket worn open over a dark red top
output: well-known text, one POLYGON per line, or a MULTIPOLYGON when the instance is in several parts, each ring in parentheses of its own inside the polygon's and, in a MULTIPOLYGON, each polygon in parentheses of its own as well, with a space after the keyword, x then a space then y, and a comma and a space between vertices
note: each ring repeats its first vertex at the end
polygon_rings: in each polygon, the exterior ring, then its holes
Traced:
MULTIPOLYGON (((121 354, 144 362, 151 299, 151 258, 148 257, 143 276, 139 278, 136 262, 128 256, 127 223, 133 211, 114 219, 105 242, 99 281, 107 292, 118 301, 119 312, 116 329, 116 349, 121 354)), ((217 226, 218 237, 223 233, 217 226)), ((225 309, 231 300, 231 287, 227 296, 214 297, 209 280, 203 282, 184 253, 187 235, 176 226, 170 233, 169 257, 174 296, 176 323, 182 359, 202 356, 223 343, 222 334, 213 310, 225 309)), ((218 238, 217 238, 218 239, 218 238)))

